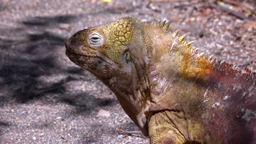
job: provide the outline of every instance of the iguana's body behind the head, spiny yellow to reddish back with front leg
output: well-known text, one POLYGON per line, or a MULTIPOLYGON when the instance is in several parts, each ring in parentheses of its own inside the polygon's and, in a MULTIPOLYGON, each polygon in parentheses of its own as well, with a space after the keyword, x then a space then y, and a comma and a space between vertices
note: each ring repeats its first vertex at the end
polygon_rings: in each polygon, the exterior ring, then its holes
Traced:
POLYGON ((150 97, 152 143, 256 142, 255 73, 195 53, 162 26, 141 23, 129 45, 150 97))

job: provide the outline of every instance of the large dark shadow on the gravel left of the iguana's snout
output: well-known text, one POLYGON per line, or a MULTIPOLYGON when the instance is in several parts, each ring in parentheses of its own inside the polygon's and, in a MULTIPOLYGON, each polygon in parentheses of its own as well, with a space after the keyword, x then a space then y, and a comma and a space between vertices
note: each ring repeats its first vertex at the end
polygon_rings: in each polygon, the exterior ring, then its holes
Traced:
POLYGON ((13 98, 18 103, 26 103, 44 93, 65 92, 65 87, 59 80, 53 84, 54 82, 43 82, 39 77, 53 74, 70 75, 65 67, 57 63, 60 57, 57 52, 64 49, 66 38, 46 29, 56 27, 59 23, 71 22, 75 17, 34 17, 22 22, 29 27, 21 25, 13 29, 0 28, 0 32, 4 34, 0 39, 3 50, 0 53, 3 58, 0 64, 0 86, 8 85, 5 90, 9 91, 8 95, 0 95, 1 104, 3 101, 8 103, 13 98), (38 25, 41 27, 37 28, 38 25), (13 97, 10 97, 11 95, 13 97))

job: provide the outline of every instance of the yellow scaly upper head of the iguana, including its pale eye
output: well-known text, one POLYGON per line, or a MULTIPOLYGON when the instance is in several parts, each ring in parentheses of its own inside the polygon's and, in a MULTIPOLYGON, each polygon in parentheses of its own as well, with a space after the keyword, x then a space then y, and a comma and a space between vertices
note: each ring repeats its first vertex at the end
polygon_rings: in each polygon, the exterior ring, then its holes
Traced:
POLYGON ((133 34, 133 23, 139 22, 131 17, 124 17, 110 23, 85 29, 79 34, 79 43, 96 50, 104 57, 119 64, 120 53, 124 52, 133 34))

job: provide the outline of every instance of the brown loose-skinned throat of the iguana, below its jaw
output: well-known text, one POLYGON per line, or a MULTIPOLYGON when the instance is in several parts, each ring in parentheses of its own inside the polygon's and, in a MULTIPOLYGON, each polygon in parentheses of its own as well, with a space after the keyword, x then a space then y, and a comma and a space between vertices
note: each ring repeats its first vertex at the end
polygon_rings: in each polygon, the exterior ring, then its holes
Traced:
POLYGON ((111 76, 110 79, 102 81, 114 92, 123 110, 138 128, 141 129, 142 133, 147 136, 147 119, 143 116, 139 116, 141 115, 141 105, 143 100, 141 100, 142 97, 135 97, 133 94, 133 87, 136 86, 136 84, 134 85, 134 83, 132 83, 131 74, 119 71, 119 73, 111 76))

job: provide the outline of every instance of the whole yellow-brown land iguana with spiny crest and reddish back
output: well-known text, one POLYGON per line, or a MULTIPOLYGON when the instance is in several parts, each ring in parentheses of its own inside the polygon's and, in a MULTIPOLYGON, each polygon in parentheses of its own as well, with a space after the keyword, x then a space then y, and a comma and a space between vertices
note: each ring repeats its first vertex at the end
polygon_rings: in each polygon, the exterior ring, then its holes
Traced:
POLYGON ((66 55, 116 95, 150 143, 256 143, 256 74, 192 49, 170 22, 83 29, 66 55))

